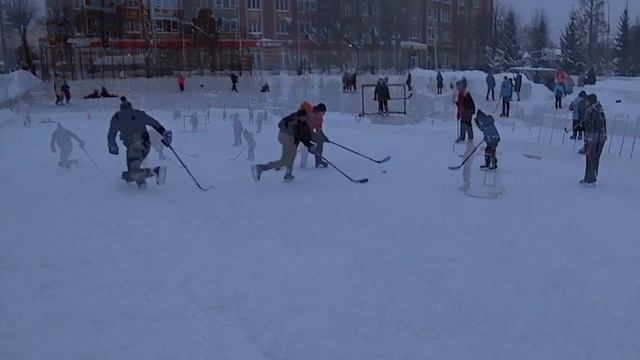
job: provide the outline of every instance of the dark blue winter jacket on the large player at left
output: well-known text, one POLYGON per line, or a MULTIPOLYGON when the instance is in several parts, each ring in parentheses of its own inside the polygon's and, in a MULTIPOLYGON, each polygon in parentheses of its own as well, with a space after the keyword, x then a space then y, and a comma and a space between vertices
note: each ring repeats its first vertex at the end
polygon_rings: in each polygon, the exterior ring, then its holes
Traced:
POLYGON ((166 132, 166 129, 160 123, 147 115, 144 111, 135 110, 128 102, 120 105, 120 111, 115 113, 111 118, 107 141, 110 148, 117 147, 116 135, 120 133, 120 140, 125 146, 130 146, 138 140, 149 141, 149 133, 146 126, 154 128, 160 135, 166 132))

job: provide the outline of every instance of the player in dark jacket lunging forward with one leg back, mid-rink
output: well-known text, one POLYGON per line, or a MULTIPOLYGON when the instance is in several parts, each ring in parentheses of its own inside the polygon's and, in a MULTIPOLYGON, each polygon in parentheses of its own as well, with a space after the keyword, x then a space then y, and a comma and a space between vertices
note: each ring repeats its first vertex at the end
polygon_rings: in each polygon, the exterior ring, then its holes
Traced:
POLYGON ((313 106, 308 102, 302 103, 300 109, 278 123, 280 132, 278 134, 278 142, 282 145, 282 155, 280 159, 267 164, 259 164, 251 167, 253 179, 260 181, 262 173, 271 170, 286 167, 284 180, 292 181, 295 177, 291 174, 293 171, 293 163, 296 160, 296 153, 299 143, 303 143, 312 154, 315 153, 315 145, 311 142, 311 129, 307 119, 313 111, 313 106))

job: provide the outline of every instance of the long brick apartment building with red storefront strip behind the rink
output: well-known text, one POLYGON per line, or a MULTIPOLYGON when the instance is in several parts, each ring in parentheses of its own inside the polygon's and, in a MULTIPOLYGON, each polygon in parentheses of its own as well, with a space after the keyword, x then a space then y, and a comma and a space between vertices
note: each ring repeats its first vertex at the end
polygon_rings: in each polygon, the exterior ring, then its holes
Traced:
POLYGON ((293 70, 481 66, 493 0, 46 0, 51 63, 293 70), (195 24, 196 26, 193 26, 195 24))

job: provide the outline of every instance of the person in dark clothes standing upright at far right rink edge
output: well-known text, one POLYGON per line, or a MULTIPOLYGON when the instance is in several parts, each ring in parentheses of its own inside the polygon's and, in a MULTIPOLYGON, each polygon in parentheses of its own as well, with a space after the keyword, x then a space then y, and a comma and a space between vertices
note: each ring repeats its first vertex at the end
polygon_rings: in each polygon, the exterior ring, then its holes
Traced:
POLYGON ((600 156, 607 141, 607 118, 595 94, 588 95, 587 102, 584 114, 586 167, 580 184, 593 185, 598 181, 600 156))

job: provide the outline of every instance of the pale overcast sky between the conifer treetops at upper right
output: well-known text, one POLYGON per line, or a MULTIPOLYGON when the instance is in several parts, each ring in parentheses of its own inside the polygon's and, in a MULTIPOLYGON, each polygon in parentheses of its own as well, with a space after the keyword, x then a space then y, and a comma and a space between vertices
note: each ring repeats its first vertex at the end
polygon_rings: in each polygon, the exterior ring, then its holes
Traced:
MULTIPOLYGON (((579 0, 497 0, 502 4, 512 4, 520 15, 520 20, 523 23, 530 21, 531 16, 535 13, 536 8, 542 8, 545 10, 547 16, 551 21, 551 37, 554 43, 559 42, 560 33, 564 29, 564 26, 569 17, 569 11, 574 4, 577 4, 579 0)), ((611 33, 615 34, 618 18, 622 14, 622 10, 626 5, 627 0, 609 0, 611 6, 611 33)), ((632 20, 636 18, 636 15, 640 15, 640 2, 637 0, 629 1, 629 12, 631 13, 632 20), (635 5, 634 5, 635 4, 635 5)), ((605 16, 607 9, 605 8, 605 16)))

